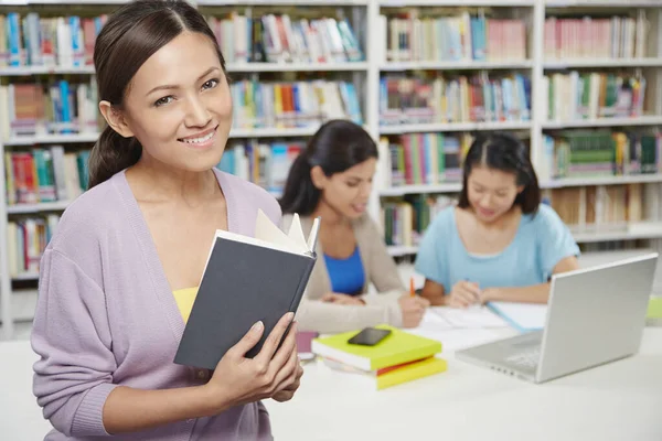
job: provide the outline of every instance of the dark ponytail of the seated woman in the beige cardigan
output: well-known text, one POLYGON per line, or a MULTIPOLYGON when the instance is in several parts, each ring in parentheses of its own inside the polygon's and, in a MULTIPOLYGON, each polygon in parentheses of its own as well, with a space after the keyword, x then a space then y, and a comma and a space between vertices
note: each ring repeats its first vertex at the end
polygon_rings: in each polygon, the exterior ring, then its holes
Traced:
POLYGON ((282 213, 298 213, 301 216, 308 216, 317 208, 321 192, 312 183, 310 170, 307 151, 303 150, 292 163, 282 197, 278 201, 282 213))

